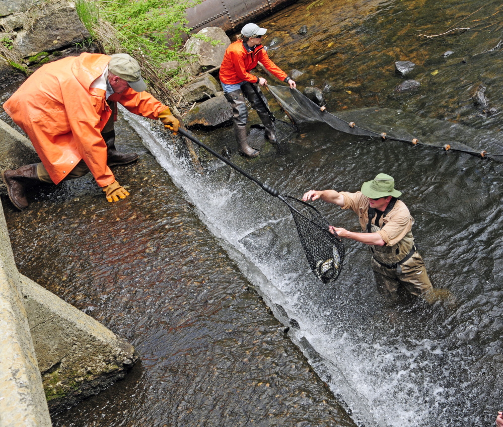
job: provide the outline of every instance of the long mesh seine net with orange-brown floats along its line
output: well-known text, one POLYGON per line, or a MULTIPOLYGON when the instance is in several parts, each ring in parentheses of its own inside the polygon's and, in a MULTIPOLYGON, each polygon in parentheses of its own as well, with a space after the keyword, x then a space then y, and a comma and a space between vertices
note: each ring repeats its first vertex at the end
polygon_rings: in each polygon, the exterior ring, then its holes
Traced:
POLYGON ((503 162, 498 132, 449 121, 425 119, 388 108, 364 108, 331 114, 297 89, 268 86, 270 94, 295 123, 326 123, 341 132, 469 153, 503 162))

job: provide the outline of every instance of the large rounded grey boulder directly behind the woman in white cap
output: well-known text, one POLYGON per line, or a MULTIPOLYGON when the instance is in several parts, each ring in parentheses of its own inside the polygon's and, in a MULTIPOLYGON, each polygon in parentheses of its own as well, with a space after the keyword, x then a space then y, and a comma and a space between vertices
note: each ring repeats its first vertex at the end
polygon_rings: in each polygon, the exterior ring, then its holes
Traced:
POLYGON ((211 40, 217 40, 219 44, 213 46, 211 43, 193 36, 187 40, 187 43, 185 43, 185 51, 196 57, 196 60, 191 64, 191 71, 194 76, 198 75, 201 70, 204 71, 220 66, 224 59, 224 53, 231 44, 231 39, 227 37, 225 31, 219 27, 206 27, 197 34, 203 35, 211 40))

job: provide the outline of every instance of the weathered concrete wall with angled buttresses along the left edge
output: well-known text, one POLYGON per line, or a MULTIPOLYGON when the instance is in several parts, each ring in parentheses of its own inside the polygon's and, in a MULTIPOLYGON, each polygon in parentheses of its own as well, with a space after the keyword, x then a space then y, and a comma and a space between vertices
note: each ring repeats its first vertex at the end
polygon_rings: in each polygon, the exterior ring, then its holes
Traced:
MULTIPOLYGON (((0 120, 0 170, 38 161, 0 120)), ((49 426, 49 409, 98 393, 138 359, 132 345, 18 272, 1 205, 0 328, 0 427, 49 426)))

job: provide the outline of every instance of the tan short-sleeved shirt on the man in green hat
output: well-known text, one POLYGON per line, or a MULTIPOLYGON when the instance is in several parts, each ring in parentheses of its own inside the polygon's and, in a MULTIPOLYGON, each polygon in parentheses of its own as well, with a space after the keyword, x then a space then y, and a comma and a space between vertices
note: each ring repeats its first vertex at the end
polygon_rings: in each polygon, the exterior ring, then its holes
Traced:
MULTIPOLYGON (((340 191, 344 196, 343 209, 351 209, 358 216, 362 230, 367 230, 369 223, 369 198, 364 196, 360 191, 355 193, 348 193, 347 191, 340 191)), ((372 220, 372 224, 376 221, 376 216, 372 220)), ((397 200, 393 209, 388 212, 386 217, 381 217, 379 226, 382 230, 377 233, 386 242, 386 246, 393 246, 402 240, 405 235, 412 229, 414 219, 410 216, 409 209, 401 200, 397 200)))

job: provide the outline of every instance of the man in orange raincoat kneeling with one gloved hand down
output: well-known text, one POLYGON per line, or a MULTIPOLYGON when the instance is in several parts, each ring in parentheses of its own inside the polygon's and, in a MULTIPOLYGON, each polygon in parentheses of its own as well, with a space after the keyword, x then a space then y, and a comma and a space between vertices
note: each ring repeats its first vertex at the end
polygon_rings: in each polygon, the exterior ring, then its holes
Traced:
POLYGON ((25 191, 37 182, 58 184, 88 172, 109 202, 128 196, 109 166, 138 156, 115 150, 115 103, 178 131, 170 109, 146 89, 138 63, 126 53, 82 53, 36 70, 4 104, 42 161, 2 173, 14 205, 25 209, 25 191))

